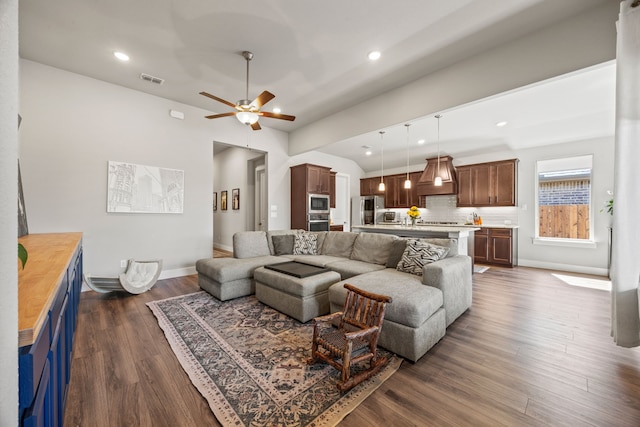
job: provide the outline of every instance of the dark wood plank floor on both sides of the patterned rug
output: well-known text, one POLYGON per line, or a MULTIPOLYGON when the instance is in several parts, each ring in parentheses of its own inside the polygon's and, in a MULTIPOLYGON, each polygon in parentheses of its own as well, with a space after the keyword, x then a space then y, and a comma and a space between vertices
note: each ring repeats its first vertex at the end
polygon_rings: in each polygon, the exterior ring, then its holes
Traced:
MULTIPOLYGON (((145 305, 196 291, 188 276, 82 294, 66 426, 219 425, 145 305)), ((606 291, 492 267, 446 336, 340 426, 638 426, 640 349, 612 343, 609 317, 606 291)))

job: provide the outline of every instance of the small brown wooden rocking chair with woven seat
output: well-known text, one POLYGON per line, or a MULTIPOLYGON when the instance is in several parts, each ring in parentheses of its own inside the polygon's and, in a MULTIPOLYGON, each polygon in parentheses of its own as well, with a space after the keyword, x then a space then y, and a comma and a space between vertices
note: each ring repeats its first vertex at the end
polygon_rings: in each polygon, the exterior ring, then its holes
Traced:
POLYGON ((346 391, 375 375, 388 360, 378 357, 377 345, 384 309, 391 297, 345 284, 344 311, 313 319, 309 364, 321 359, 342 372, 338 389, 346 391), (351 368, 369 360, 369 369, 351 375, 351 368))

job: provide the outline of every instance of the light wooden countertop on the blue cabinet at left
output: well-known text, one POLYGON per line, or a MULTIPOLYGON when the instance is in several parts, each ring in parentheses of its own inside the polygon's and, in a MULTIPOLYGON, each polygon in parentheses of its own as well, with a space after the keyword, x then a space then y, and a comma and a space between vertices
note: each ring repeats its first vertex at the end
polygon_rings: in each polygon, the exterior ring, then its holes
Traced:
POLYGON ((18 241, 29 254, 24 270, 18 267, 18 346, 23 347, 40 333, 82 233, 29 234, 18 241))

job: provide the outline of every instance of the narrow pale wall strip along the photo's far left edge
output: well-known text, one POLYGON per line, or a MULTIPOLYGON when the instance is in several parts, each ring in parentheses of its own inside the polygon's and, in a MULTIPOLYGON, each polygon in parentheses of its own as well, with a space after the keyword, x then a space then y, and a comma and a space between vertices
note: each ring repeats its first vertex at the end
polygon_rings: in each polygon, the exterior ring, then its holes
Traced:
POLYGON ((0 0, 0 425, 18 424, 18 0, 0 0))

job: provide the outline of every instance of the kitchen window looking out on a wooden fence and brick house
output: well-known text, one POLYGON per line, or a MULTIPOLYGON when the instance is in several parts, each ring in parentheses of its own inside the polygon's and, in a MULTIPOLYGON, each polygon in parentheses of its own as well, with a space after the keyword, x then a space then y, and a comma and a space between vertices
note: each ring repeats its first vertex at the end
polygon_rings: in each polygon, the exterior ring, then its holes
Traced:
POLYGON ((537 162, 535 243, 593 243, 592 164, 591 155, 537 162))

